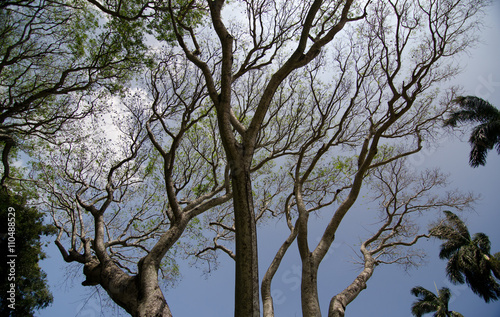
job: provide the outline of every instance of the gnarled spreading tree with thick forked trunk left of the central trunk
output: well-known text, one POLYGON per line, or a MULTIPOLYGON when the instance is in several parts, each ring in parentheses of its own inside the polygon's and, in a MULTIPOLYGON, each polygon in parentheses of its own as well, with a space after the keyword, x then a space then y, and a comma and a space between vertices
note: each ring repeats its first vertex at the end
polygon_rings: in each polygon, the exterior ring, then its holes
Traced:
POLYGON ((212 106, 187 66, 168 54, 147 94, 124 98, 115 138, 105 119, 89 118, 72 139, 36 153, 64 260, 83 264, 82 284, 101 285, 133 316, 170 316, 159 275, 175 279, 174 255, 189 249, 181 235, 231 198, 220 144, 203 138, 215 128, 212 106))

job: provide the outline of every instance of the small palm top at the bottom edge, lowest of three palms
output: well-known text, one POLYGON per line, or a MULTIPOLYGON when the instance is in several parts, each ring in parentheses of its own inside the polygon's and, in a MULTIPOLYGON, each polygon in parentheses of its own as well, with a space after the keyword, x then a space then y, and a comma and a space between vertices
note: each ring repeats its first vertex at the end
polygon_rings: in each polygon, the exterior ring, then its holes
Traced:
POLYGON ((422 286, 412 288, 411 293, 418 297, 411 306, 411 313, 416 317, 432 312, 435 312, 434 317, 463 317, 460 313, 448 310, 451 292, 447 287, 441 288, 437 296, 422 286))

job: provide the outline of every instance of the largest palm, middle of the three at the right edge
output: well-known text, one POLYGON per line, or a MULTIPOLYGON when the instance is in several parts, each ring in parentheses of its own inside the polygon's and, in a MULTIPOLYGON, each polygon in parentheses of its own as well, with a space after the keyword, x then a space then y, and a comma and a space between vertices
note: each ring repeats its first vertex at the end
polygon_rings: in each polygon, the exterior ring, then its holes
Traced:
POLYGON ((465 223, 451 211, 445 211, 446 219, 430 230, 441 240, 439 257, 448 259, 446 273, 455 284, 467 283, 471 290, 485 302, 500 298, 498 260, 490 255, 490 240, 484 233, 471 237, 465 223), (493 275, 495 277, 493 277, 493 275))

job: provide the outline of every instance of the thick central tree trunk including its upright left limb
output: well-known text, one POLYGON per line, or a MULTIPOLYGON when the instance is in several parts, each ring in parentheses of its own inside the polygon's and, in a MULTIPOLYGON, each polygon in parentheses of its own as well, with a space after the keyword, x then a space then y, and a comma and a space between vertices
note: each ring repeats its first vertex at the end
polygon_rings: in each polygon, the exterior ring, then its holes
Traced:
MULTIPOLYGON (((212 101, 217 109, 219 132, 229 166, 233 190, 234 226, 236 241, 235 317, 259 317, 259 276, 257 261, 257 228, 252 196, 250 166, 254 154, 256 136, 240 143, 233 129, 241 125, 233 118, 231 108, 233 36, 221 18, 223 1, 209 1, 214 29, 222 48, 221 88, 217 93, 213 78, 205 73, 212 101), (210 84, 212 83, 212 84, 210 84), (210 87, 211 86, 211 87, 210 87)), ((245 139, 243 127, 240 135, 245 139)))

